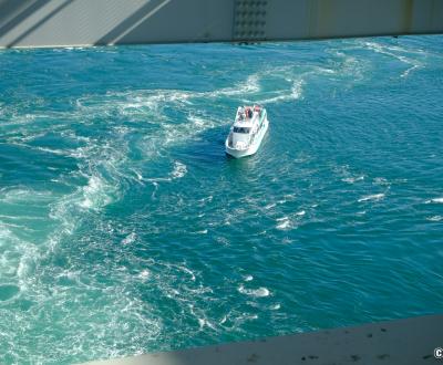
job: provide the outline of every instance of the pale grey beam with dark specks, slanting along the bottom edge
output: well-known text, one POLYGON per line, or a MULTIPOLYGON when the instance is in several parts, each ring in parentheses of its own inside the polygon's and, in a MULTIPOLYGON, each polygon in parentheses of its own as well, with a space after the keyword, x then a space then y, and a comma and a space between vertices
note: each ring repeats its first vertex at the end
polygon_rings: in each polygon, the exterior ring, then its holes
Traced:
MULTIPOLYGON (((174 338, 171 338, 173 343, 174 338)), ((443 315, 258 341, 163 352, 89 365, 420 365, 443 364, 443 315)))

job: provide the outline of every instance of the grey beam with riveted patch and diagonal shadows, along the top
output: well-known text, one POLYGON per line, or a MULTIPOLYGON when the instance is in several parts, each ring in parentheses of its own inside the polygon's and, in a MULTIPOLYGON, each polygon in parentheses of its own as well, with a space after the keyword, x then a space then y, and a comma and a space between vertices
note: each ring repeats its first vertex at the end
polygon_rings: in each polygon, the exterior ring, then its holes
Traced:
POLYGON ((443 33, 443 0, 0 0, 0 48, 443 33))

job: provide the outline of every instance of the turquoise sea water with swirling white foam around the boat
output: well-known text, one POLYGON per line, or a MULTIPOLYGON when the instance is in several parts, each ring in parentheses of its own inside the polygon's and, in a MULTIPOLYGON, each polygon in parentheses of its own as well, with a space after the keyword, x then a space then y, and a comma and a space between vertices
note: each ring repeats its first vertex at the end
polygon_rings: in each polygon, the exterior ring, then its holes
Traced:
POLYGON ((0 52, 2 364, 441 313, 442 233, 443 36, 0 52))

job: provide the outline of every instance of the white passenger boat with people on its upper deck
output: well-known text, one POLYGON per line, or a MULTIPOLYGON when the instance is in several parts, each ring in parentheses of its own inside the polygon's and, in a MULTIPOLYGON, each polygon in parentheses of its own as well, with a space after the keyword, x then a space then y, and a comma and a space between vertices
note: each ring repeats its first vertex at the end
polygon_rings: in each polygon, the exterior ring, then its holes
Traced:
POLYGON ((236 158, 254 155, 260 147, 268 126, 268 115, 264 107, 239 106, 225 142, 226 153, 236 158))

